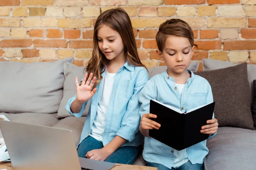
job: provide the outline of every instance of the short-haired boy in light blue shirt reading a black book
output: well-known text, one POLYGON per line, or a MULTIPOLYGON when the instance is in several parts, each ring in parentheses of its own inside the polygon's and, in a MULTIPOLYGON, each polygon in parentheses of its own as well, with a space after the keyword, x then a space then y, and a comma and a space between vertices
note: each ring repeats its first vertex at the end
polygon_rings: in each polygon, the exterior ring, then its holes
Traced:
MULTIPOLYGON (((150 99, 171 105, 183 113, 213 102, 209 82, 187 70, 195 51, 191 27, 183 20, 167 20, 160 25, 156 41, 157 54, 166 63, 167 70, 152 77, 139 96, 142 103, 140 131, 145 136, 143 158, 148 166, 159 170, 203 170, 204 157, 208 153, 206 140, 178 151, 148 136, 149 129, 161 128, 159 123, 149 119, 157 117, 149 113, 150 99)), ((207 120, 206 124, 201 133, 215 135, 217 119, 207 120)), ((171 133, 166 132, 166 135, 171 133)))

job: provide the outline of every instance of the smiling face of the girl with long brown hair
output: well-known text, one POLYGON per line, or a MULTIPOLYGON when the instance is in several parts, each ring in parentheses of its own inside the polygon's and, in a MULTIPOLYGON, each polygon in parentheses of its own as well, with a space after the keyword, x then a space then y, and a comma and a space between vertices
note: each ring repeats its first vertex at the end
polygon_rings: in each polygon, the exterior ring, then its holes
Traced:
POLYGON ((103 25, 97 31, 99 49, 109 60, 125 57, 124 44, 118 32, 103 25))

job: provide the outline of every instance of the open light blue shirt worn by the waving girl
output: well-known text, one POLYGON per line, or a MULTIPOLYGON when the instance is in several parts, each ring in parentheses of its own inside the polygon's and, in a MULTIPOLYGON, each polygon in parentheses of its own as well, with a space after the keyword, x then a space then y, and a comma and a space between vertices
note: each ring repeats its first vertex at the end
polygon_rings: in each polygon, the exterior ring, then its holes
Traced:
MULTIPOLYGON (((104 76, 105 72, 102 73, 102 77, 104 76)), ((104 146, 111 142, 116 135, 127 140, 122 146, 139 146, 142 144, 143 138, 139 132, 140 102, 138 98, 148 79, 148 71, 144 67, 136 67, 128 62, 116 73, 103 133, 102 143, 104 146)), ((102 85, 102 82, 100 82, 96 86, 97 91, 90 99, 90 108, 79 144, 90 134, 102 94, 102 85)), ((70 107, 75 99, 76 95, 69 99, 65 108, 70 114, 81 117, 87 102, 84 103, 79 113, 73 113, 70 107)))

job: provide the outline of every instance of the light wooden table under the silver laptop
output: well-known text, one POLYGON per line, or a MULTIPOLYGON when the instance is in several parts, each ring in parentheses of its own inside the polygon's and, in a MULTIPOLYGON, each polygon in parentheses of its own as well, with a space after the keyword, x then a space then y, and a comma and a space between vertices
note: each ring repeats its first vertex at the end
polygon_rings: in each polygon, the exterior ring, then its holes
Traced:
MULTIPOLYGON (((0 169, 14 170, 11 162, 0 163, 0 169)), ((156 167, 145 167, 139 165, 116 164, 111 170, 157 170, 156 167)))

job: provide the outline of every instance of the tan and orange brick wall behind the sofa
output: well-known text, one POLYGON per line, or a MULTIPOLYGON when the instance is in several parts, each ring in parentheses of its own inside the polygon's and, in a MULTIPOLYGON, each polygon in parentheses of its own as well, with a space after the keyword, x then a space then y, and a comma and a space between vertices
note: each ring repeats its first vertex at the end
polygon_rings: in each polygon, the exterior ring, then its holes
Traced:
POLYGON ((154 38, 169 18, 192 26, 198 45, 193 60, 256 64, 256 0, 0 0, 0 61, 73 57, 74 64, 84 66, 91 57, 97 16, 116 6, 131 17, 147 67, 164 65, 154 38))

